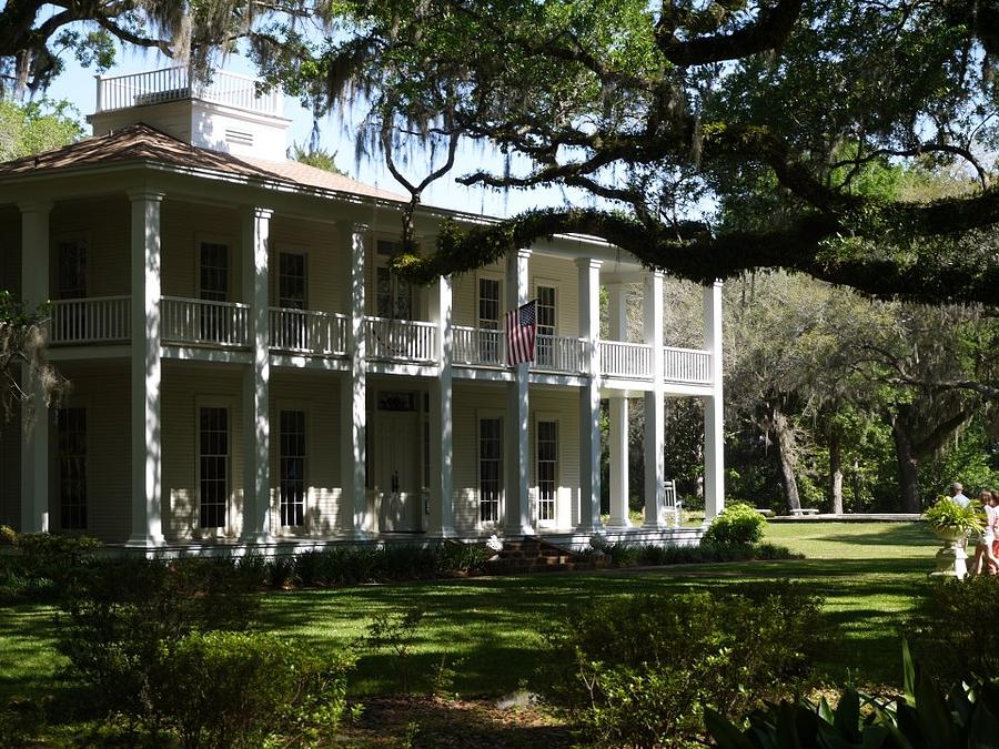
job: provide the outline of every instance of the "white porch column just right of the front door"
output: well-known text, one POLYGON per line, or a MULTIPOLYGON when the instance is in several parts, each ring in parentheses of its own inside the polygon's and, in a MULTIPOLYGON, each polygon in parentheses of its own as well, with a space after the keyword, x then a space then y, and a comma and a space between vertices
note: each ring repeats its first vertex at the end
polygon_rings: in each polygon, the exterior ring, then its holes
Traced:
MULTIPOLYGON (((451 279, 440 277, 431 296, 431 318, 437 323, 437 378, 430 388, 430 518, 426 533, 436 538, 455 536, 453 479, 453 421, 451 364, 454 357, 453 293, 451 279)), ((421 508, 422 512, 422 508, 421 508)))

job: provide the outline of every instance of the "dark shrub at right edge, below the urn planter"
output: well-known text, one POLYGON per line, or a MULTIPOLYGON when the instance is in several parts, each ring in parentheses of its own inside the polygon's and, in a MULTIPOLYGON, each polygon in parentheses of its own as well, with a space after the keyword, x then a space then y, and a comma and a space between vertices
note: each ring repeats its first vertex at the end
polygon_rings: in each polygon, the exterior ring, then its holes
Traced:
POLYGON ((976 575, 925 590, 905 631, 927 675, 939 685, 971 675, 999 678, 999 577, 976 575))

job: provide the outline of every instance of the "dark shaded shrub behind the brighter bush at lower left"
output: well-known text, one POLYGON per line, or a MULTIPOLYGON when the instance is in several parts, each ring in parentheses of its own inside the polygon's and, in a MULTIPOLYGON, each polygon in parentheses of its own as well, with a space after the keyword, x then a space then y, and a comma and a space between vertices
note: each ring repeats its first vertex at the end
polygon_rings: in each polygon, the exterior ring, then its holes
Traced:
POLYGON ((58 647, 99 706, 141 715, 160 649, 195 629, 245 629, 254 590, 225 559, 92 563, 63 603, 58 647))

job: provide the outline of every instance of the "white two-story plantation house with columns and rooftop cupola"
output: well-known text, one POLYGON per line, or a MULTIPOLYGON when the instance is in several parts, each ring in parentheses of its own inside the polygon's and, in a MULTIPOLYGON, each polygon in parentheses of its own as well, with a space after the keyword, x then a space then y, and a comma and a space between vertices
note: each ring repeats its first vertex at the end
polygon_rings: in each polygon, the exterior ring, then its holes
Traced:
MULTIPOLYGON (((551 535, 693 543, 664 513, 664 403, 703 398, 723 505, 720 286, 700 350, 664 341, 663 276, 586 236, 430 287, 389 272, 403 199, 285 159, 282 100, 218 72, 98 80, 93 138, 0 164, 0 289, 52 300, 58 411, 0 435, 0 524, 200 549, 551 535), (644 285, 644 340, 626 291, 644 285), (609 340, 599 337, 601 287, 609 340), (537 300, 537 352, 505 363, 537 300), (609 401, 610 518, 599 517, 609 401), (645 522, 627 518, 643 398, 645 522)), ((444 217, 423 208, 431 244, 444 217)))

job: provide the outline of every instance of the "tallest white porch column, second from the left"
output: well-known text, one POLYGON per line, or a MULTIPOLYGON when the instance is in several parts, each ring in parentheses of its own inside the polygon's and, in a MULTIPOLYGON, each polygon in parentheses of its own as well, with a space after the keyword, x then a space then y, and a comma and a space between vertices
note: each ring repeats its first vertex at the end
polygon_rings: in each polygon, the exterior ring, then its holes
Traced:
POLYGON ((132 204, 132 535, 129 546, 163 543, 160 431, 160 205, 163 194, 129 193, 132 204))

